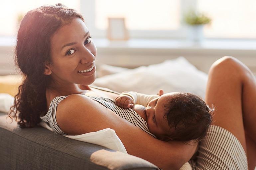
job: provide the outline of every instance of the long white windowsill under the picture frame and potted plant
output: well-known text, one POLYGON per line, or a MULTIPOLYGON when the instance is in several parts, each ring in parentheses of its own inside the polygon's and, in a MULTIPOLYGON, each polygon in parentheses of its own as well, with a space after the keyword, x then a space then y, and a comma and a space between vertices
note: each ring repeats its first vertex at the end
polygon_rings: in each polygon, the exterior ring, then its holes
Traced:
MULTIPOLYGON (((110 41, 106 38, 93 38, 98 48, 135 49, 215 49, 215 50, 256 50, 256 40, 205 39, 191 42, 179 39, 130 39, 110 41)), ((14 46, 16 37, 0 36, 0 47, 14 46)))

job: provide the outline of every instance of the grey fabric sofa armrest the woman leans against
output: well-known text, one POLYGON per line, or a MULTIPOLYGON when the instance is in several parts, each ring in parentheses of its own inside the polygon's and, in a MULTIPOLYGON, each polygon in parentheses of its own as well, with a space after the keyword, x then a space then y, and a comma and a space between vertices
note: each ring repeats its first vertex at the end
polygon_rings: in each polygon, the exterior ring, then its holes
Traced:
POLYGON ((149 170, 157 166, 103 146, 80 142, 43 127, 21 129, 0 116, 0 169, 149 170))

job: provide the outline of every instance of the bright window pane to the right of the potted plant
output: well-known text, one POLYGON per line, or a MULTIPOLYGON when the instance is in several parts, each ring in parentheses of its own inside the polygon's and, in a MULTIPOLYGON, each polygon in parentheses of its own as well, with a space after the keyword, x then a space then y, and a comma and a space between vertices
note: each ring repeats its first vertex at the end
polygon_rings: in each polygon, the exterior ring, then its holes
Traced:
POLYGON ((256 38, 255 0, 198 0, 197 6, 213 19, 205 27, 205 36, 256 38))

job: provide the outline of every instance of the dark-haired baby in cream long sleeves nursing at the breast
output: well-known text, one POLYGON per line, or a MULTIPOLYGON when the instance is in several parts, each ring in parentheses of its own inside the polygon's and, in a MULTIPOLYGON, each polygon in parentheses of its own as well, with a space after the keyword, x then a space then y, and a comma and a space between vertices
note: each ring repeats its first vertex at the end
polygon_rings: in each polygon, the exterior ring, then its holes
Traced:
POLYGON ((149 131, 162 141, 200 141, 212 122, 214 110, 194 94, 164 94, 163 90, 158 95, 123 92, 115 100, 117 106, 125 109, 134 109, 138 104, 145 106, 136 112, 147 122, 149 131))

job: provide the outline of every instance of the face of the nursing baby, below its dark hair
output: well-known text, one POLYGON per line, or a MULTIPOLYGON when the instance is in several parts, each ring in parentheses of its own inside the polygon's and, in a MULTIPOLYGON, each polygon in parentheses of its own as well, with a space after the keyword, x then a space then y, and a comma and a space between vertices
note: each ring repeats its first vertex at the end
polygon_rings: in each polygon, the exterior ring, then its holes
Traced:
POLYGON ((164 117, 166 113, 164 104, 166 104, 167 101, 170 101, 175 94, 176 92, 163 94, 160 97, 151 100, 146 107, 149 131, 156 135, 158 139, 163 139, 171 132, 167 119, 164 117))

